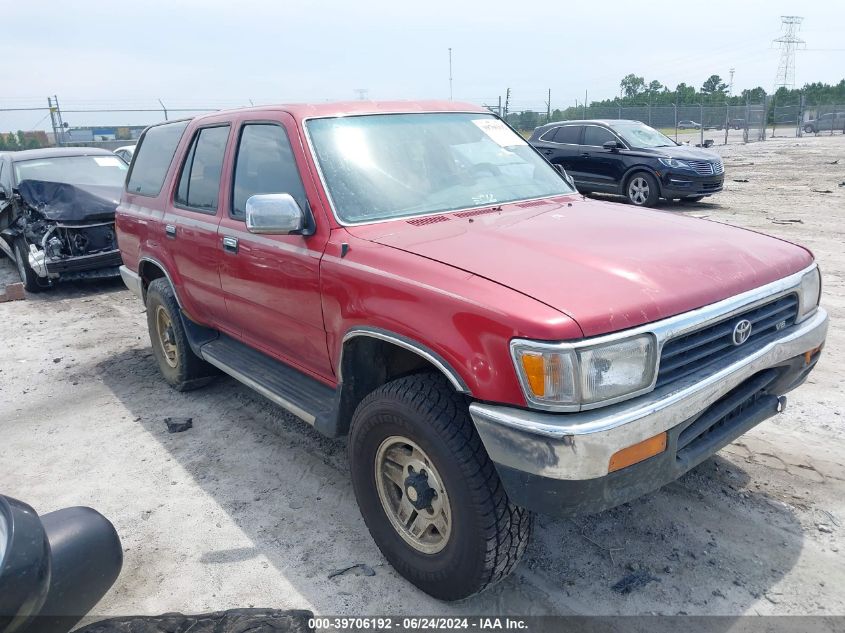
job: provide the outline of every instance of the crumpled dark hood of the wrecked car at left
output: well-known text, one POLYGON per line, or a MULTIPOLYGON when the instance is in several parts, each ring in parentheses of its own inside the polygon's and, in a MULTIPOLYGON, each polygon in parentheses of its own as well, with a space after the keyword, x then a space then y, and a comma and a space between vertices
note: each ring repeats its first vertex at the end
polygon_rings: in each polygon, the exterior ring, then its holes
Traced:
POLYGON ((121 188, 22 180, 18 193, 26 204, 48 220, 93 222, 114 219, 121 188))

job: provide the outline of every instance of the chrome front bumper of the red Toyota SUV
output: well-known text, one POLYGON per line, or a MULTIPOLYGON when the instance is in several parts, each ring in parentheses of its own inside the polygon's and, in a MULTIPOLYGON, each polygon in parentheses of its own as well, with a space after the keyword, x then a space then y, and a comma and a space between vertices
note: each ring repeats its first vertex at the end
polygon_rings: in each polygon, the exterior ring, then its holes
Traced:
POLYGON ((497 465, 550 479, 604 477, 617 451, 689 420, 754 374, 820 347, 827 325, 819 308, 777 339, 737 350, 718 371, 600 409, 547 413, 476 402, 470 415, 497 465))

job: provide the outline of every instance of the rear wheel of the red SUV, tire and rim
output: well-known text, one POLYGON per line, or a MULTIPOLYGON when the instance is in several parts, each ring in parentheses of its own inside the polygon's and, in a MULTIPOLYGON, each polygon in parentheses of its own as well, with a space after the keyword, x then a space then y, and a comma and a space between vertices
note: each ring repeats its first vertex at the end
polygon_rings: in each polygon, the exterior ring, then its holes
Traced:
POLYGON ((194 354, 188 344, 182 311, 170 282, 164 277, 147 288, 147 328, 161 375, 176 391, 207 385, 217 370, 194 354))

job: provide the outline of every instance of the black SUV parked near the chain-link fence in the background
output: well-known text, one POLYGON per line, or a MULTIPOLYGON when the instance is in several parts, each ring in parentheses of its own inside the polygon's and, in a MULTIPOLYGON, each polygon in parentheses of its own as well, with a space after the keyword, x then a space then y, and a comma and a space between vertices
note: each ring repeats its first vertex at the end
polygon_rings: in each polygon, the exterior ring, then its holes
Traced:
POLYGON ((581 193, 616 193, 637 206, 660 198, 698 202, 721 191, 725 179, 718 154, 678 145, 639 121, 548 123, 529 142, 563 167, 581 193))

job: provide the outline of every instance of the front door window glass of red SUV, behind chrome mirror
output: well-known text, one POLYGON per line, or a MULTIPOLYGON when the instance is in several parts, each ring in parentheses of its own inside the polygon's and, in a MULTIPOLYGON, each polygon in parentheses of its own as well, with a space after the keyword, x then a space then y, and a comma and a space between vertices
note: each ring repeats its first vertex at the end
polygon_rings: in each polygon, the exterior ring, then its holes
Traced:
POLYGON ((246 217, 246 201, 259 193, 289 193, 306 209, 305 189, 285 129, 268 123, 243 127, 235 162, 232 217, 246 217))

